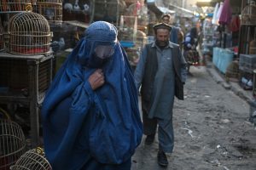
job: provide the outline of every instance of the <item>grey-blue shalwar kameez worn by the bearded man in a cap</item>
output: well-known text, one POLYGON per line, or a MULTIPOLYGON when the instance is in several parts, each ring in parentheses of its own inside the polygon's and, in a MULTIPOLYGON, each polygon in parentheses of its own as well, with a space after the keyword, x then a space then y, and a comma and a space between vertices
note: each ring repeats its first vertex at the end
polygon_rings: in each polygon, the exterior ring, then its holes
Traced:
MULTIPOLYGON (((165 152, 172 152, 173 150, 173 127, 172 127, 172 109, 175 96, 175 70, 172 59, 173 48, 178 48, 177 44, 169 42, 166 48, 160 49, 153 42, 151 48, 156 50, 157 55, 157 71, 155 73, 153 89, 152 89, 152 102, 148 111, 143 111, 143 117, 147 116, 149 122, 143 118, 144 133, 146 135, 155 133, 157 123, 158 135, 160 141, 160 149, 165 152), (148 125, 147 125, 148 123, 148 125)), ((178 49, 179 51, 179 49, 178 49)), ((143 53, 140 56, 140 61, 135 71, 135 82, 137 88, 143 86, 143 76, 147 74, 145 71, 146 60, 149 54, 147 54, 147 48, 143 49, 143 53)), ((181 69, 181 81, 185 82, 186 68, 185 60, 181 53, 178 53, 181 58, 181 63, 178 63, 181 69)), ((143 99, 143 96, 142 96, 143 99)))

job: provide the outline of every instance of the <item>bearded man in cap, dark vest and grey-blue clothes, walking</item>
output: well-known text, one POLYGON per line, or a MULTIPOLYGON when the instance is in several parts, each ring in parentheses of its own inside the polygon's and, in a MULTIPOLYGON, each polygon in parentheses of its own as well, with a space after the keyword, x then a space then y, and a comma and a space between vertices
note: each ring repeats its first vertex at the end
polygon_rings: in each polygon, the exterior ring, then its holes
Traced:
POLYGON ((169 41, 172 27, 154 26, 155 40, 143 48, 135 71, 137 89, 141 87, 145 144, 152 144, 158 125, 158 163, 166 167, 166 152, 172 153, 174 134, 172 109, 174 95, 183 99, 186 62, 176 43, 169 41))

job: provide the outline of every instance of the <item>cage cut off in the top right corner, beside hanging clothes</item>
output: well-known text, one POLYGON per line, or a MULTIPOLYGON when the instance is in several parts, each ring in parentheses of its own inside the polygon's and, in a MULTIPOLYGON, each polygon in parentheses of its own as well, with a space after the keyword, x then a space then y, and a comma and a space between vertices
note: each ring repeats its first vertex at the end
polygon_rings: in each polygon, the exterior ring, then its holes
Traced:
POLYGON ((241 11, 241 25, 256 25, 256 5, 251 1, 249 5, 241 11))

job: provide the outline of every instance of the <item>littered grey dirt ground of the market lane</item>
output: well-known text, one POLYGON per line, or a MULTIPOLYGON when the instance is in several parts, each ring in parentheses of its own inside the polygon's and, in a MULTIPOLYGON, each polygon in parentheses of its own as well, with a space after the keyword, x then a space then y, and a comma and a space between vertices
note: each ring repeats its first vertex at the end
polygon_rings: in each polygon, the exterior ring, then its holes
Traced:
POLYGON ((255 170, 256 130, 248 121, 247 102, 214 82, 206 67, 191 67, 184 93, 175 101, 175 145, 169 165, 156 161, 157 138, 144 138, 132 157, 132 170, 255 170))

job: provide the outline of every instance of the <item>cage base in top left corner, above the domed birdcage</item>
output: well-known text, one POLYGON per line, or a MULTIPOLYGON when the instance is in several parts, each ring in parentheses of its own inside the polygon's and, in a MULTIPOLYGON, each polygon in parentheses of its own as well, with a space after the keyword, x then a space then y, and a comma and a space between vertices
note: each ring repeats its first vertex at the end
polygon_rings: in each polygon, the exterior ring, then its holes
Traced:
POLYGON ((14 13, 30 10, 31 0, 1 0, 0 13, 14 13))

